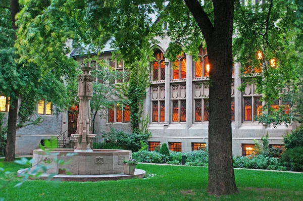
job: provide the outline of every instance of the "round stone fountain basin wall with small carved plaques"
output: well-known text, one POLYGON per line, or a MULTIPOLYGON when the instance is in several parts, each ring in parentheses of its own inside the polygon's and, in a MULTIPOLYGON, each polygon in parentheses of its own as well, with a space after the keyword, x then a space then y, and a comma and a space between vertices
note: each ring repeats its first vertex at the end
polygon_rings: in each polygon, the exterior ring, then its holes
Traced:
POLYGON ((33 152, 33 165, 45 165, 47 174, 73 175, 103 175, 123 173, 122 161, 131 159, 130 150, 120 149, 93 149, 93 152, 75 153, 72 148, 36 149, 33 152), (48 154, 49 153, 49 154, 48 154), (52 154, 58 154, 58 156, 52 154), (70 156, 71 154, 76 154, 70 156), (57 160, 56 160, 57 158, 57 160), (64 164, 60 164, 60 160, 64 164))

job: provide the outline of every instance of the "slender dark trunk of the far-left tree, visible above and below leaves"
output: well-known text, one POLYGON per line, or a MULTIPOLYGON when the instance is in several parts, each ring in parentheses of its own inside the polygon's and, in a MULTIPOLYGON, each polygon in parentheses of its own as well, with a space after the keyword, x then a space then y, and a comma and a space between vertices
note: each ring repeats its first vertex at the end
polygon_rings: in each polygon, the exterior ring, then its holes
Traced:
MULTIPOLYGON (((16 15, 19 12, 19 2, 18 0, 11 0, 11 17, 13 29, 17 30, 16 26, 16 15)), ((16 33, 14 32, 14 40, 17 39, 16 33)), ((5 161, 15 160, 16 151, 16 130, 17 130, 17 117, 18 117, 18 92, 14 91, 14 96, 11 97, 10 111, 8 119, 8 135, 7 135, 7 145, 5 150, 5 161)))

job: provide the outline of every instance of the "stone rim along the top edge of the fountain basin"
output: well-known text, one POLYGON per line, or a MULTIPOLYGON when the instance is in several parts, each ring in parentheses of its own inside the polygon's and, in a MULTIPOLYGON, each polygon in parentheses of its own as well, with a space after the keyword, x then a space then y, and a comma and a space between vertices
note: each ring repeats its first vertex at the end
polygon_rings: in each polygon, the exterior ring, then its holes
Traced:
POLYGON ((73 148, 46 148, 45 150, 42 149, 35 149, 33 154, 38 155, 47 155, 45 152, 50 153, 60 153, 60 155, 65 156, 67 154, 76 153, 77 156, 123 156, 123 155, 131 155, 131 150, 122 150, 122 149, 93 149, 92 152, 74 152, 73 148))

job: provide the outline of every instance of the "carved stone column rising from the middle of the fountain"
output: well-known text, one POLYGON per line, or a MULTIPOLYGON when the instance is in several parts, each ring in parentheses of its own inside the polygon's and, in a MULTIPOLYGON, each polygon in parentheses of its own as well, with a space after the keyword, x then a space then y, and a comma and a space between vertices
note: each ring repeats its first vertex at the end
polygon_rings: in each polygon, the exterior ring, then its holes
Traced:
POLYGON ((90 117, 90 99, 92 97, 93 76, 90 67, 82 66, 83 75, 78 76, 79 114, 77 122, 75 152, 92 152, 92 137, 90 117))

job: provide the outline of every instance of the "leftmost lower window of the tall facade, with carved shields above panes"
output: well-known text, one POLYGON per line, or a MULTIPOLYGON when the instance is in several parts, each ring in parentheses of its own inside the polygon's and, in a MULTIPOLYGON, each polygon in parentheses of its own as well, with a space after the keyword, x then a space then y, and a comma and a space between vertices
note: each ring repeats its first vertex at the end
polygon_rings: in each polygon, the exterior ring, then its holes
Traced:
POLYGON ((165 121, 165 86, 151 87, 151 122, 165 121))

